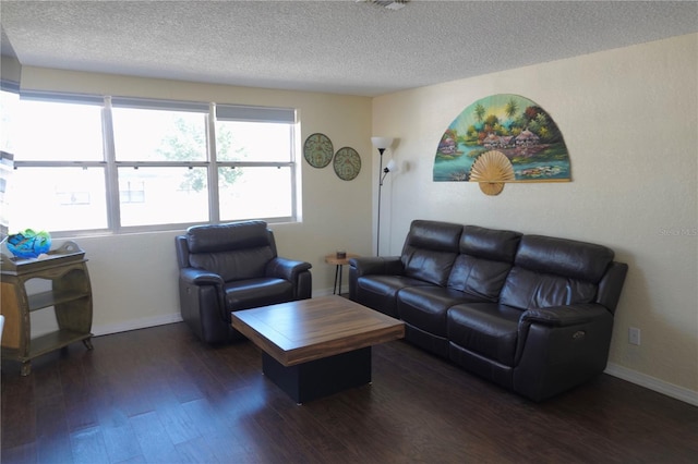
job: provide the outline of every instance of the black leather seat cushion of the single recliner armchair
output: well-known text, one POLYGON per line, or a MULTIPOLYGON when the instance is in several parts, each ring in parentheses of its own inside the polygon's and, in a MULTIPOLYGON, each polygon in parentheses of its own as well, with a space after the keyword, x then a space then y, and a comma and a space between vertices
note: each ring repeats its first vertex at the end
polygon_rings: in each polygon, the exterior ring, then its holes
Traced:
POLYGON ((226 283, 225 291, 227 313, 293 300, 292 283, 277 278, 237 280, 226 283))

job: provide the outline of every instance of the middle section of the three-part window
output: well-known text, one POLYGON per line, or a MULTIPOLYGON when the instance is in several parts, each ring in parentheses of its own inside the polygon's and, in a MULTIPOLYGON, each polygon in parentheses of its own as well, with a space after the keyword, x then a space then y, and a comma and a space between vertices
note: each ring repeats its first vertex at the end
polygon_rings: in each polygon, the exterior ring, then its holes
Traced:
POLYGON ((111 118, 121 227, 208 222, 208 105, 115 98, 111 118))

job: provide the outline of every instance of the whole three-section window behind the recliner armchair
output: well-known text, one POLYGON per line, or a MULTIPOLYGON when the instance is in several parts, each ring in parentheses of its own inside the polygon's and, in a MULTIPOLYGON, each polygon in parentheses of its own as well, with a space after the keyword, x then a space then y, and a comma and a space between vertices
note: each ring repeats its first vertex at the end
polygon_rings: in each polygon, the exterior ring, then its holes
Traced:
POLYGON ((296 112, 23 96, 10 228, 181 229, 296 218, 296 112))

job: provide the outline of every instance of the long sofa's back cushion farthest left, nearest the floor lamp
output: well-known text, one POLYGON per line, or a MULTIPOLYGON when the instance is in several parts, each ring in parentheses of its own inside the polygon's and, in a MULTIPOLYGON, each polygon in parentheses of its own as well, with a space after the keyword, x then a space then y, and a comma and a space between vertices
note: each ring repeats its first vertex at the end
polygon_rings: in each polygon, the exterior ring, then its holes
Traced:
POLYGON ((445 286, 456 256, 462 225, 416 220, 402 246, 405 276, 445 286))

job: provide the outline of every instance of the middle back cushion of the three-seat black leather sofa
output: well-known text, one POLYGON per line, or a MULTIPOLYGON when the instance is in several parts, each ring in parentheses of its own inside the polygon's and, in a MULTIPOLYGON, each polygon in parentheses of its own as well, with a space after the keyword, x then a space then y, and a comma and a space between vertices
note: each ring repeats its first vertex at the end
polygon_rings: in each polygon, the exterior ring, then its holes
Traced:
POLYGON ((464 227, 448 286, 496 302, 520 240, 519 232, 464 227))

